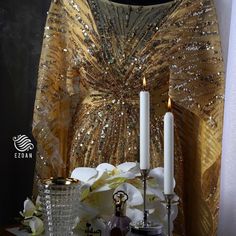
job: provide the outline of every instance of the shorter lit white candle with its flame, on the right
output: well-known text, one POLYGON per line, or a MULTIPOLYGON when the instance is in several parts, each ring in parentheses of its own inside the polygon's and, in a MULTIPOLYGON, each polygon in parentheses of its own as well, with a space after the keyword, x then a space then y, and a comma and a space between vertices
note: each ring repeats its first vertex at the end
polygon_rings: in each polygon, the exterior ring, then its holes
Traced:
MULTIPOLYGON (((170 99, 168 108, 171 109, 170 99)), ((171 111, 164 117, 164 193, 174 192, 174 116, 171 111)))

